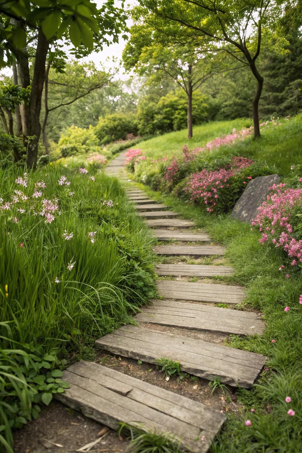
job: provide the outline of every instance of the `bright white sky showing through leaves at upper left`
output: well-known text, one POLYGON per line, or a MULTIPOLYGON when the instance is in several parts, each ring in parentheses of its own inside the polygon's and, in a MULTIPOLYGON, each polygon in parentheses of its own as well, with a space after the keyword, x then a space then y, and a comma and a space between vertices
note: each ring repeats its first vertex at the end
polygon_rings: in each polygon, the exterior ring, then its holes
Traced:
MULTIPOLYGON (((98 8, 101 7, 105 3, 103 0, 96 0, 96 5, 98 8)), ((120 0, 115 0, 115 5, 120 6, 120 0)), ((131 8, 132 6, 137 5, 137 0, 125 0, 125 9, 131 8)), ((128 19, 127 20, 127 25, 130 27, 132 25, 132 20, 128 19)), ((82 59, 83 61, 93 61, 96 63, 98 66, 100 63, 106 68, 109 69, 112 67, 112 57, 115 57, 117 59, 122 58, 122 52, 125 47, 127 41, 124 41, 124 39, 120 38, 119 43, 115 44, 110 44, 110 46, 104 46, 103 51, 99 53, 91 53, 89 57, 82 59)), ((66 48, 67 49, 67 48, 66 48)), ((65 50, 65 49, 64 49, 65 50)), ((11 76, 12 71, 10 68, 4 68, 1 69, 0 71, 1 75, 5 76, 11 76)), ((129 75, 124 73, 124 69, 121 67, 119 73, 117 74, 117 78, 121 78, 123 80, 126 80, 129 77, 129 75)))

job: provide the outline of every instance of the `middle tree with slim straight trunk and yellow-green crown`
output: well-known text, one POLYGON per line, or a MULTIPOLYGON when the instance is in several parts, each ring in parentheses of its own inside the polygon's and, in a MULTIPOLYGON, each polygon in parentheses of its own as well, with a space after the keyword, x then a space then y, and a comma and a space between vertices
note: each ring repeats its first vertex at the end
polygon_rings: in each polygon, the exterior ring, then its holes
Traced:
POLYGON ((178 24, 168 24, 144 8, 132 10, 134 25, 123 52, 126 70, 135 68, 139 75, 147 75, 160 83, 165 75, 171 77, 187 95, 188 139, 192 130, 193 92, 216 71, 217 62, 201 48, 184 42, 178 24))

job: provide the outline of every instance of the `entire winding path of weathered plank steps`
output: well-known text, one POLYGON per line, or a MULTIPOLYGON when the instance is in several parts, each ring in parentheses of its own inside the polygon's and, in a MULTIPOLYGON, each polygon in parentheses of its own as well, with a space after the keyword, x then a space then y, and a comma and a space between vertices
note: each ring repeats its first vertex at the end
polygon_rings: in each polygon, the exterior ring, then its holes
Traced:
MULTIPOLYGON (((127 181, 123 169, 125 152, 106 168, 111 176, 127 181)), ((196 231, 194 222, 180 219, 177 212, 157 203, 136 187, 126 187, 129 201, 137 215, 152 228, 158 241, 181 241, 162 244, 154 252, 162 257, 223 256, 221 246, 211 245, 211 238, 196 231), (186 244, 190 242, 190 244, 186 244), (203 242, 203 245, 192 242, 203 242)), ((210 258, 211 257, 211 258, 210 258)), ((168 259, 168 258, 166 258, 168 259)), ((183 259, 182 259, 183 260, 183 259)), ((232 275, 225 265, 197 265, 174 262, 158 264, 158 293, 163 299, 152 300, 135 316, 135 321, 149 327, 127 325, 96 341, 96 347, 113 354, 156 364, 166 357, 179 361, 182 371, 207 380, 219 379, 230 386, 250 388, 262 370, 266 358, 209 341, 160 332, 159 326, 175 326, 184 333, 191 331, 251 335, 264 331, 264 323, 256 313, 231 309, 244 301, 244 289, 227 284, 205 283, 202 278, 232 275), (178 280, 171 280, 171 277, 178 280), (200 281, 185 279, 199 278, 200 281), (179 280, 182 278, 182 280, 179 280), (215 307, 213 304, 225 304, 215 307), (158 331, 151 328, 158 326, 158 331)), ((158 432, 171 433, 185 449, 206 453, 224 423, 225 416, 211 407, 198 403, 158 386, 92 362, 80 361, 64 371, 70 389, 58 399, 113 429, 119 422, 144 424, 158 432)))

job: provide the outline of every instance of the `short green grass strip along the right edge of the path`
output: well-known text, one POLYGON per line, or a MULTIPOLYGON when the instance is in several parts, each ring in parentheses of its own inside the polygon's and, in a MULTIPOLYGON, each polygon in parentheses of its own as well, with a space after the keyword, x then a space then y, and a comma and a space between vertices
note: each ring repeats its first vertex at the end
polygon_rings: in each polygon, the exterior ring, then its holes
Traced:
MULTIPOLYGON (((143 186, 141 186, 143 187, 143 186)), ((267 371, 251 390, 238 390, 245 410, 227 414, 224 429, 212 445, 212 453, 294 453, 301 449, 302 435, 302 294, 301 270, 290 260, 284 272, 284 255, 275 247, 259 244, 259 233, 228 215, 206 215, 201 207, 183 203, 144 187, 152 199, 164 202, 183 218, 192 219, 211 234, 213 241, 226 247, 226 259, 235 269, 232 277, 247 290, 245 306, 263 313, 266 329, 258 335, 232 335, 230 347, 257 352, 268 357, 267 371), (290 278, 285 278, 285 274, 290 278), (284 312, 284 307, 290 310, 284 312), (276 342, 272 343, 274 339, 276 342), (285 398, 290 396, 291 403, 285 398), (254 408, 255 412, 250 410, 254 408), (289 416, 292 409, 295 416, 289 416), (250 419, 251 426, 244 420, 250 419)))

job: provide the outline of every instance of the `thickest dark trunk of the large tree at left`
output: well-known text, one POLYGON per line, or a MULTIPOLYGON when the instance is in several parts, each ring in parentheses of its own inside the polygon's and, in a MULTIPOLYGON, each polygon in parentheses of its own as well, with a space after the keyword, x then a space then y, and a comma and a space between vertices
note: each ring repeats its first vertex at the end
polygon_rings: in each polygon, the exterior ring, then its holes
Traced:
POLYGON ((49 43, 42 32, 38 31, 37 50, 34 61, 34 75, 32 88, 29 97, 29 115, 26 119, 27 127, 27 159, 28 168, 36 168, 38 157, 38 142, 41 134, 40 112, 43 86, 45 80, 45 63, 48 52, 49 43))

